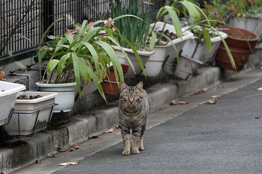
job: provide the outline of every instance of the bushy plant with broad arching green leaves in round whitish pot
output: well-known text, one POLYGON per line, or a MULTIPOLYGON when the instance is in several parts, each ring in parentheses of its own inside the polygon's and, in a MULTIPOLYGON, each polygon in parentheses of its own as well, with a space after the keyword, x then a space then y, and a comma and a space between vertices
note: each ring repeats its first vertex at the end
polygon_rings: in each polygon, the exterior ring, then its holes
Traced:
MULTIPOLYGON (((75 29, 67 29, 63 36, 49 36, 52 39, 51 42, 46 43, 44 46, 40 44, 37 52, 39 67, 41 67, 43 58, 49 60, 45 71, 49 75, 49 79, 44 79, 46 75, 44 73, 42 76, 40 71, 41 80, 36 83, 36 86, 41 91, 54 91, 54 89, 44 89, 44 87, 59 86, 56 87, 58 96, 55 102, 59 103, 60 106, 55 106, 54 112, 71 110, 75 97, 75 86, 73 85, 77 85, 81 97, 81 79, 85 84, 93 82, 101 96, 105 99, 100 82, 102 82, 109 71, 110 64, 113 66, 117 83, 119 77, 123 81, 121 64, 111 45, 114 43, 119 46, 121 51, 124 52, 124 50, 114 37, 115 29, 111 23, 127 16, 133 15, 122 15, 106 21, 99 20, 88 23, 84 20, 82 24, 72 23, 75 29), (102 24, 102 26, 96 27, 99 24, 102 24), (65 84, 61 85, 61 83, 65 84), (61 87, 66 87, 66 89, 61 89, 61 87), (69 94, 65 94, 65 91, 69 92, 69 94), (63 95, 66 99, 60 98, 63 95), (68 107, 62 108, 61 102, 68 102, 69 96, 72 99, 71 104, 66 104, 68 107)), ((48 30, 58 20, 54 21, 48 30)), ((44 33, 43 38, 47 35, 48 30, 44 33)))

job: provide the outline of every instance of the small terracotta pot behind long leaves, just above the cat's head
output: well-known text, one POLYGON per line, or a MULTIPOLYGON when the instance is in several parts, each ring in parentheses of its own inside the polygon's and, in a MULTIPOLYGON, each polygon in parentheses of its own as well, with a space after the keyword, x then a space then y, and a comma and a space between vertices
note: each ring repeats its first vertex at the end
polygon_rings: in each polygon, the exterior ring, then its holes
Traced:
MULTIPOLYGON (((128 72, 129 65, 121 63, 121 67, 123 69, 124 74, 128 72)), ((103 91, 104 91, 105 94, 116 95, 117 92, 118 92, 118 86, 117 86, 117 83, 116 83, 115 73, 114 73, 113 67, 110 67, 110 71, 107 75, 108 75, 108 78, 106 77, 105 80, 102 83, 103 91), (111 83, 111 85, 110 85, 110 83, 111 83)))

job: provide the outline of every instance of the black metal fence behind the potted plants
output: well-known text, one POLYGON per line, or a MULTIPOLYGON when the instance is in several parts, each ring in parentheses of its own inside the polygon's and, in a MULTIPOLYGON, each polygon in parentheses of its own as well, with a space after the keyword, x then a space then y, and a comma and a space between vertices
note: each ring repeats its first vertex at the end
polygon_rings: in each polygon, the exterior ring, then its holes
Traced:
MULTIPOLYGON (((84 19, 104 19, 111 1, 0 0, 0 66, 33 57, 34 46, 39 44, 44 31, 54 20, 69 18, 74 23, 82 23, 84 19)), ((154 12, 164 5, 164 0, 151 2, 154 12)), ((49 35, 63 34, 70 27, 70 21, 63 19, 55 23, 49 35)))

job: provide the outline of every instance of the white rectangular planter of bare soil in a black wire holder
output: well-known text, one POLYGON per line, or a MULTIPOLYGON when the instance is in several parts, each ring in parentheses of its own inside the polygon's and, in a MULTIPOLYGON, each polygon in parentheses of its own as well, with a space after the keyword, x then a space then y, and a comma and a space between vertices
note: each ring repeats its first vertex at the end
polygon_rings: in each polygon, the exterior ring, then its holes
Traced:
POLYGON ((8 125, 3 126, 8 135, 30 135, 47 128, 56 92, 18 92, 17 96, 41 95, 33 100, 16 100, 15 111, 8 125), (19 118, 18 118, 19 117, 19 118))

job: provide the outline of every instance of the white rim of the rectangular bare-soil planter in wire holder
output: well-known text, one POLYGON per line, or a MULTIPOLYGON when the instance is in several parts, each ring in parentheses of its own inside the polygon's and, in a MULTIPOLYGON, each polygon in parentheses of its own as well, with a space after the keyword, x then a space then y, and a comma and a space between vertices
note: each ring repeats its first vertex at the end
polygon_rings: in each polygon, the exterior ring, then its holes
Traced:
POLYGON ((43 93, 47 94, 45 96, 42 96, 38 99, 32 99, 32 100, 19 100, 16 99, 16 103, 37 103, 37 102, 43 102, 46 100, 49 100, 51 98, 54 98, 58 95, 57 92, 41 92, 41 91, 24 91, 24 92, 18 92, 17 96, 19 95, 26 95, 25 93, 29 93, 30 95, 41 95, 43 93))

